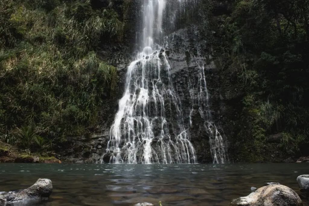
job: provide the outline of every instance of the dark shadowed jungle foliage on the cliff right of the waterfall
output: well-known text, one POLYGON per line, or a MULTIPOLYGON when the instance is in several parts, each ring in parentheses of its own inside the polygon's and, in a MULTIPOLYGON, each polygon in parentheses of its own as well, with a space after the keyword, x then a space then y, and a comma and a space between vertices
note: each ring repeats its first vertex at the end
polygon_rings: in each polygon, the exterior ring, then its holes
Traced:
MULTIPOLYGON (((212 1, 210 22, 226 80, 241 101, 235 156, 309 155, 309 1, 212 1), (277 134, 275 144, 269 136, 277 134)), ((214 46, 214 44, 212 45, 214 46)), ((235 125, 236 127, 238 125, 235 125)))

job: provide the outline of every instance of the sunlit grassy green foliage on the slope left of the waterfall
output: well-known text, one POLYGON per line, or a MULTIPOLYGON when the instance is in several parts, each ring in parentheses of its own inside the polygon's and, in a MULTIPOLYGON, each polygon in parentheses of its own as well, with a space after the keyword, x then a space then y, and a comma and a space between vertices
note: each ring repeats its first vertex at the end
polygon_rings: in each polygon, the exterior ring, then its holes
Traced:
POLYGON ((46 151, 96 122, 117 82, 96 47, 121 42, 129 3, 0 1, 0 142, 46 151))

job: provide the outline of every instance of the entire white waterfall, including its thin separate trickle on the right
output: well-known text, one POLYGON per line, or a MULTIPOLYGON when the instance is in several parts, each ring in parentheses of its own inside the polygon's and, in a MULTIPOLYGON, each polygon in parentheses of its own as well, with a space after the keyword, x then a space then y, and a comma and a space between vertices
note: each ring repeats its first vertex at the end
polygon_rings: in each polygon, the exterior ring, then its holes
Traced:
POLYGON ((140 49, 128 66, 125 92, 101 163, 103 159, 106 162, 105 155, 109 163, 197 163, 188 133, 196 108, 204 121, 213 162, 228 162, 223 138, 212 121, 202 61, 197 62, 198 82, 188 81, 192 101, 190 125, 184 123, 180 97, 171 78, 168 38, 164 35, 167 30, 173 31, 177 15, 196 3, 197 0, 144 0, 143 26, 136 38, 140 49))

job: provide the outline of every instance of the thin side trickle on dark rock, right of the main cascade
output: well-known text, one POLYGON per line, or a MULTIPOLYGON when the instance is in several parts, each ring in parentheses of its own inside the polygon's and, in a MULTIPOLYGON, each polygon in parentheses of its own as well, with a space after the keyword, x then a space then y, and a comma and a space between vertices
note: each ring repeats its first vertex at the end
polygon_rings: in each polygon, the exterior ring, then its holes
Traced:
MULTIPOLYGON (((199 52, 197 53, 199 55, 199 52)), ((200 69, 197 82, 198 87, 194 88, 194 84, 190 80, 188 81, 189 93, 192 104, 192 109, 189 115, 190 126, 192 127, 193 124, 192 114, 194 108, 198 108, 201 118, 204 120, 205 130, 209 135, 210 152, 213 157, 213 163, 228 163, 229 160, 226 153, 226 146, 220 132, 218 131, 211 117, 209 92, 207 89, 207 82, 205 78, 204 64, 202 63, 202 61, 198 61, 197 66, 200 69)))

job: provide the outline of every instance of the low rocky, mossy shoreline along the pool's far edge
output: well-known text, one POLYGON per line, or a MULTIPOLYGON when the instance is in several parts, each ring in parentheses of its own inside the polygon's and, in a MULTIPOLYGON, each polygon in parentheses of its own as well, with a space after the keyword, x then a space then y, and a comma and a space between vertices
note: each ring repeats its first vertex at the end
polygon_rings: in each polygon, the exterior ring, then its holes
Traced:
MULTIPOLYGON (((105 152, 108 134, 94 134, 90 137, 71 138, 59 151, 49 153, 29 153, 0 141, 0 163, 107 163, 101 157, 105 152), (72 143, 72 144, 71 144, 72 143), (74 144, 73 144, 74 143, 74 144)), ((272 161, 270 161, 272 162, 272 161)), ((282 163, 309 163, 309 157, 276 160, 282 163)), ((212 163, 212 162, 199 162, 212 163)), ((269 162, 265 162, 269 163, 269 162)))

